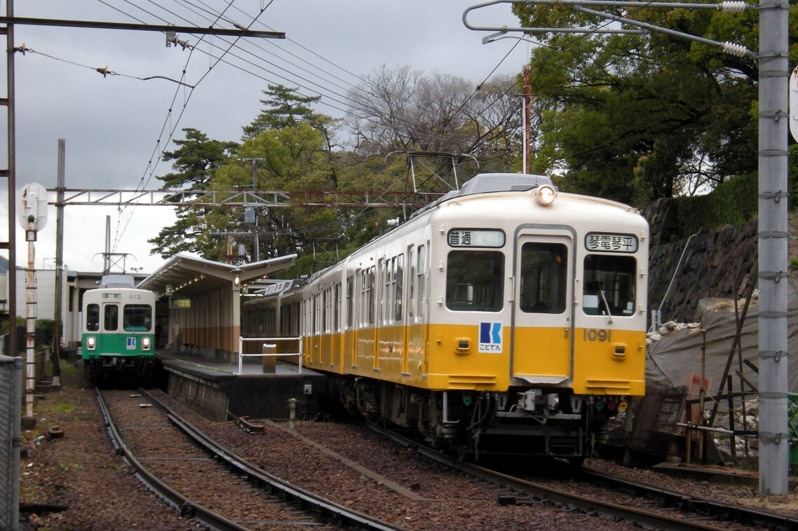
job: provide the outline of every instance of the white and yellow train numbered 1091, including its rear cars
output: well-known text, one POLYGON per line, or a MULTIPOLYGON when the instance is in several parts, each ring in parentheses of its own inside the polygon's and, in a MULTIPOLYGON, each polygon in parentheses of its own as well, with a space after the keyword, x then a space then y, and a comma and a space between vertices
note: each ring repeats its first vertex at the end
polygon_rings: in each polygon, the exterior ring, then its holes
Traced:
POLYGON ((460 457, 579 462, 645 391, 648 246, 634 208, 480 174, 243 328, 302 336, 334 398, 460 457))

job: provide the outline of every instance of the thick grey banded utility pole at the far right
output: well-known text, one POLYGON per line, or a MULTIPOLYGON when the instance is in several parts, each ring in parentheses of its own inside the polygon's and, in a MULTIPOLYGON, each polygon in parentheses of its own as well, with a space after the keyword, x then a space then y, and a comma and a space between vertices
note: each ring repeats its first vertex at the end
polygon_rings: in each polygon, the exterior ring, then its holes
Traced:
POLYGON ((759 491, 787 494, 788 2, 760 2, 759 491))

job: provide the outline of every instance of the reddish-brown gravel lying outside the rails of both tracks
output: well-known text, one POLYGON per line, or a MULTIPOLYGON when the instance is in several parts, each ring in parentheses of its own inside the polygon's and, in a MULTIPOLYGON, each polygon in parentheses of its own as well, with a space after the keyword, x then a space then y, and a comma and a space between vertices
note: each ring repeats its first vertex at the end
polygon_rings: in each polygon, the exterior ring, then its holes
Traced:
MULTIPOLYGON (((62 370, 61 391, 37 400, 38 425, 24 433, 23 503, 65 505, 62 511, 30 514, 33 529, 200 529, 146 490, 113 451, 93 392, 79 387, 72 368, 62 370), (53 430, 53 427, 57 429, 53 430), (51 437, 49 432, 60 433, 51 437)), ((208 423, 184 413, 221 443, 264 470, 405 529, 624 529, 604 517, 543 505, 496 503, 490 484, 452 474, 412 450, 386 443, 370 431, 333 423, 298 423, 288 432, 267 425, 248 434, 235 423, 208 423), (304 439, 303 439, 304 438, 304 439), (323 446, 319 450, 313 446, 323 446), (354 464, 353 464, 354 463, 354 464), (359 468, 358 468, 359 463, 359 468)), ((707 498, 798 516, 798 494, 761 497, 756 485, 731 486, 674 478, 645 468, 591 459, 599 469, 707 498)), ((631 529, 631 528, 628 528, 631 529)))

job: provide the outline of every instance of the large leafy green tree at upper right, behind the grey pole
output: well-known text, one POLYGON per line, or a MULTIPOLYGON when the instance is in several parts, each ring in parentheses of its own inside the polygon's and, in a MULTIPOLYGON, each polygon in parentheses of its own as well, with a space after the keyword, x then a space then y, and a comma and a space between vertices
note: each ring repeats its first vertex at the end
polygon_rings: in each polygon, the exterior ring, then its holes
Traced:
MULTIPOLYGON (((566 6, 513 7, 523 26, 587 26, 566 6)), ((757 49, 756 14, 629 10, 643 22, 757 49)), ((531 58, 535 169, 565 190, 645 204, 757 167, 757 64, 661 33, 545 34, 531 58)))

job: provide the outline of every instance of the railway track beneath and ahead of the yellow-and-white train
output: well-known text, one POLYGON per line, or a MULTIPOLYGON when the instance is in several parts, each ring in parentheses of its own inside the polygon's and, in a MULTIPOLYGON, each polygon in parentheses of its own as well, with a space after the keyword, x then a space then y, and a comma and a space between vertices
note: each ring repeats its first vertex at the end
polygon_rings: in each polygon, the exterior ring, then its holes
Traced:
POLYGON ((507 505, 540 502, 565 505, 586 512, 599 513, 616 521, 626 521, 654 529, 783 529, 785 531, 798 529, 796 517, 709 500, 594 470, 574 469, 564 462, 562 468, 558 469, 559 472, 550 473, 559 478, 567 478, 568 481, 576 480, 591 486, 605 487, 606 497, 588 497, 565 487, 552 487, 543 482, 530 481, 527 478, 502 474, 497 470, 457 461, 441 454, 439 450, 419 445, 416 440, 385 430, 374 423, 369 423, 369 428, 397 443, 412 446, 420 454, 460 470, 464 474, 471 474, 518 492, 518 496, 504 496, 499 500, 500 503, 507 505), (609 499, 613 501, 608 501, 609 499))

